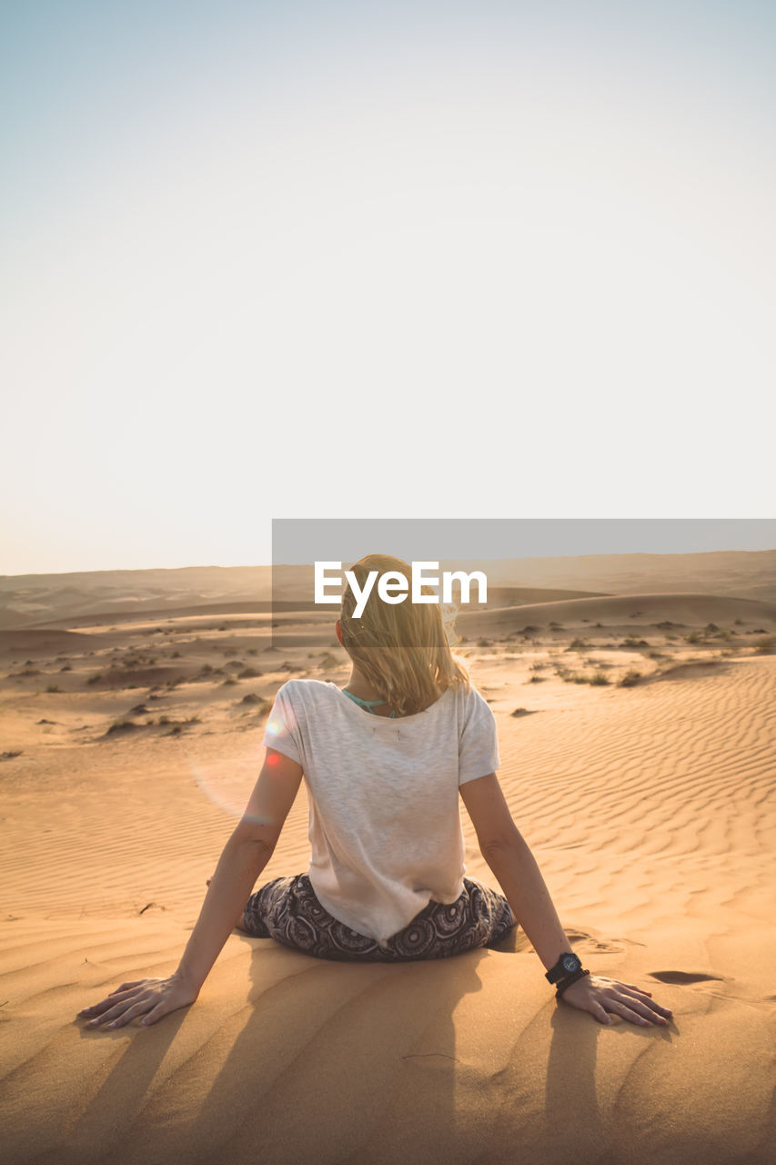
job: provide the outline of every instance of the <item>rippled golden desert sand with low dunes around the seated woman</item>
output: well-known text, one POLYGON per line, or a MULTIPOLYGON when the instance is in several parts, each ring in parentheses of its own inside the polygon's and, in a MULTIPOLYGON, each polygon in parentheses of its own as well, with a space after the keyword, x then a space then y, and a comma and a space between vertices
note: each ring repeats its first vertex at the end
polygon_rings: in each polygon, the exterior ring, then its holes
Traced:
MULTIPOLYGON (((347 669, 303 615, 274 650, 260 613, 83 623, 0 633, 3 1160, 776 1159, 773 602, 633 594, 459 621, 574 949, 672 1008, 668 1029, 557 1005, 516 930, 400 967, 234 933, 192 1008, 87 1030, 80 1008, 175 968, 266 701, 347 669)), ((467 869, 492 881, 464 824, 467 869)), ((262 881, 305 868, 301 793, 262 881)))

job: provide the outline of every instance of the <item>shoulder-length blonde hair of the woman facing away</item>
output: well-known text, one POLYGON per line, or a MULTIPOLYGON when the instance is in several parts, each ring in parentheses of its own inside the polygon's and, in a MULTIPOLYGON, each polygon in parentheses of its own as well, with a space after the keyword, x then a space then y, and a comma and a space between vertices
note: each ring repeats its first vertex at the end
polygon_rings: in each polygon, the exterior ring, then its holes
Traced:
MULTIPOLYGON (((367 555, 351 567, 359 588, 369 571, 398 571, 409 579, 411 567, 390 555, 367 555)), ((424 587, 424 593, 432 593, 424 587)), ((343 595, 343 647, 359 671, 398 716, 422 712, 449 687, 470 686, 468 673, 450 650, 438 602, 388 603, 374 586, 360 619, 353 616, 355 595, 343 595)))

